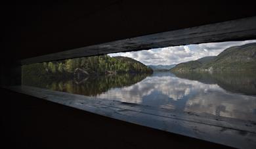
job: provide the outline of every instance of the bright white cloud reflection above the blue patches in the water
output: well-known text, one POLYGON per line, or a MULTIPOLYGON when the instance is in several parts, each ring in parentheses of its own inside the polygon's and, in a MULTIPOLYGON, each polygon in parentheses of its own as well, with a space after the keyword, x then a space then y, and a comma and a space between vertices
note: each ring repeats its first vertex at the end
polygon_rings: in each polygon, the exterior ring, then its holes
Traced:
POLYGON ((102 98, 121 99, 125 102, 142 102, 143 96, 150 95, 153 91, 168 96, 172 100, 179 100, 184 96, 190 95, 194 90, 221 90, 218 85, 205 85, 198 81, 190 81, 187 79, 179 79, 174 76, 153 76, 147 77, 143 81, 136 83, 130 87, 121 89, 110 89, 110 91, 101 95, 102 98))

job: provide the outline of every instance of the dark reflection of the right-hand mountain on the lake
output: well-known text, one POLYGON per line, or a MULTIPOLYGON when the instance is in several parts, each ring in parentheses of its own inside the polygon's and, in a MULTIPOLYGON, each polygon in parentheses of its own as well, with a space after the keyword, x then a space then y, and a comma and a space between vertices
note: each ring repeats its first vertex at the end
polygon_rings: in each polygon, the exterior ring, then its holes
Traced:
POLYGON ((218 84, 226 91, 256 95, 256 72, 182 72, 174 73, 177 77, 196 80, 207 84, 218 84))

